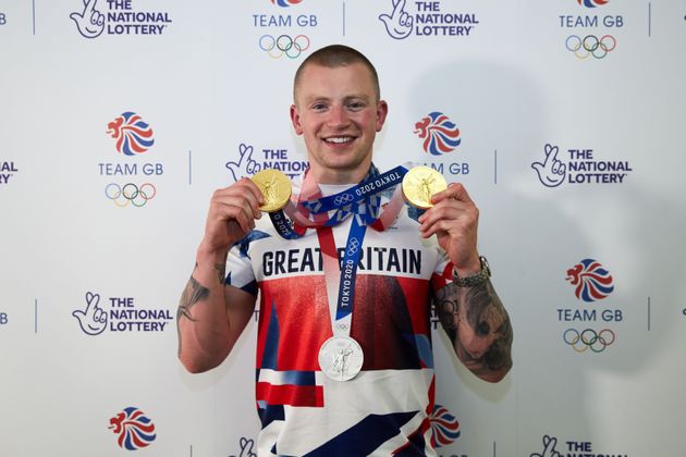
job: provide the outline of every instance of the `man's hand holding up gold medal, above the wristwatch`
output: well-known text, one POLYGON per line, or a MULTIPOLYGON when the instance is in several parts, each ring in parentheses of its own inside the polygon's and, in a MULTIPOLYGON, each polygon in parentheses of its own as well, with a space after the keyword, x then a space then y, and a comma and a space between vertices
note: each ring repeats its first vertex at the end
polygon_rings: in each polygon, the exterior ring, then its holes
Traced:
POLYGON ((461 275, 481 269, 477 251, 479 210, 462 184, 451 183, 431 197, 433 207, 419 217, 421 236, 437 236, 461 275))

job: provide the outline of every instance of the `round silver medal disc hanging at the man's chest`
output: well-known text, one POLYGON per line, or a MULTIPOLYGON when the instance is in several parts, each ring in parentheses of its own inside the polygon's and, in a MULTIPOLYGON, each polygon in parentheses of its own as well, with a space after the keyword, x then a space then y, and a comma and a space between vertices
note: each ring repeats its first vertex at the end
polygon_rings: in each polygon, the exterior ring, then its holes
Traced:
POLYGON ((359 343, 348 336, 332 336, 319 349, 319 368, 334 381, 352 380, 364 361, 359 343))

